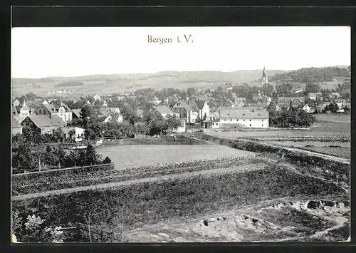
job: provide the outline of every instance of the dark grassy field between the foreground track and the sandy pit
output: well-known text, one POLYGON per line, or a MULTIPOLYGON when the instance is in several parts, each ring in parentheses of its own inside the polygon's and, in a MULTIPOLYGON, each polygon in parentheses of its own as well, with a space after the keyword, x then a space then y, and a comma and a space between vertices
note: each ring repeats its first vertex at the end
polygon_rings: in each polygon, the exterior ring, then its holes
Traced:
POLYGON ((129 230, 143 224, 175 217, 194 218, 224 207, 251 205, 261 200, 286 196, 309 199, 325 195, 333 195, 335 200, 347 200, 343 190, 336 185, 280 167, 270 167, 268 170, 199 175, 182 180, 17 200, 13 201, 12 207, 23 215, 36 208, 36 214, 53 225, 84 223, 86 217, 93 225, 105 225, 105 229, 115 231, 120 229, 117 224, 121 222, 125 230, 129 230))

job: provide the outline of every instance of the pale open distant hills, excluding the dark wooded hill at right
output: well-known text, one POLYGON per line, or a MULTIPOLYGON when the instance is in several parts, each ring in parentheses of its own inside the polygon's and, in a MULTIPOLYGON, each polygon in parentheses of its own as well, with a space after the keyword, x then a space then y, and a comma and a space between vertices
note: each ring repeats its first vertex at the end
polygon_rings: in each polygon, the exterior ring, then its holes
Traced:
MULTIPOLYGON (((268 70, 268 76, 284 73, 285 71, 268 70)), ((46 95, 51 91, 61 89, 70 90, 73 95, 88 95, 93 93, 123 93, 132 92, 140 88, 217 88, 226 83, 240 85, 243 83, 253 83, 261 86, 259 80, 262 76, 262 69, 251 71, 162 71, 152 74, 132 73, 117 75, 93 75, 78 77, 48 77, 48 78, 13 78, 13 95, 33 92, 38 95, 46 95), (36 83, 38 88, 33 88, 32 83, 36 83), (83 85, 79 85, 83 83, 83 85), (30 85, 29 85, 30 84, 30 85)))

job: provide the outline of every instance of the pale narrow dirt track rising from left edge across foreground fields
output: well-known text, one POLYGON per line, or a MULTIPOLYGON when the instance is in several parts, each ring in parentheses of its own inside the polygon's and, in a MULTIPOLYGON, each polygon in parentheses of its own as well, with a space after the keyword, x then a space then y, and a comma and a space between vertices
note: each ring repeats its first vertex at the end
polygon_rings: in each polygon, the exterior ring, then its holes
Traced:
POLYGON ((81 192, 85 190, 98 190, 98 189, 109 189, 115 187, 121 187, 124 185, 132 185, 132 184, 140 184, 144 182, 161 182, 165 180, 176 180, 182 179, 187 177, 194 177, 197 175, 221 175, 231 172, 248 172, 253 170, 263 170, 266 165, 264 163, 256 163, 252 165, 242 165, 242 166, 234 166, 229 168, 219 168, 219 169, 212 169, 212 170, 201 170, 197 172, 185 172, 179 174, 172 174, 172 175, 163 175, 157 177, 145 177, 140 178, 137 180, 126 180, 121 182, 110 182, 106 184, 99 184, 99 185, 89 185, 83 187, 75 187, 75 188, 67 188, 62 190, 51 190, 47 192, 38 192, 33 194, 26 194, 26 195, 19 195, 12 197, 12 200, 26 200, 36 197, 46 197, 49 195, 59 195, 59 194, 66 194, 72 192, 81 192))

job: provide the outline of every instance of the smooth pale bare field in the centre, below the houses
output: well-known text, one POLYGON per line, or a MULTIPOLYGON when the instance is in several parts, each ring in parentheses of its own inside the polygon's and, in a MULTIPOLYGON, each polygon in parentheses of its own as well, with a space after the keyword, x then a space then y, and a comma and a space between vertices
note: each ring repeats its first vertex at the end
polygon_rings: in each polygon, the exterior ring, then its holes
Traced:
POLYGON ((111 158, 117 170, 127 167, 215 159, 226 156, 254 156, 251 152, 236 150, 223 145, 124 145, 98 148, 98 153, 103 157, 111 158))

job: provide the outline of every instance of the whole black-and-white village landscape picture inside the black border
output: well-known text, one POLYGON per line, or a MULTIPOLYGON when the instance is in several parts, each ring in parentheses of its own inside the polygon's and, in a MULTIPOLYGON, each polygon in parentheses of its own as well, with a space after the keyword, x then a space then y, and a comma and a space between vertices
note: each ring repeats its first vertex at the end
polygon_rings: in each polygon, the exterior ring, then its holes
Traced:
POLYGON ((347 26, 11 31, 12 243, 347 242, 347 26))

